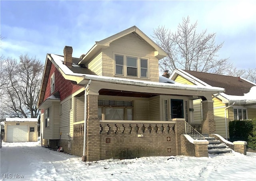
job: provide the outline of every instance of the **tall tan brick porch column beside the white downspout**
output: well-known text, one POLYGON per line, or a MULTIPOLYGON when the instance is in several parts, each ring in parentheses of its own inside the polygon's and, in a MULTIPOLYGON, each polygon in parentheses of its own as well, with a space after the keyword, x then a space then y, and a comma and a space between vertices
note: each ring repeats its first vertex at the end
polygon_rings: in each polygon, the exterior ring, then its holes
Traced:
POLYGON ((98 118, 98 93, 88 92, 86 121, 86 161, 100 159, 100 121, 98 118))

